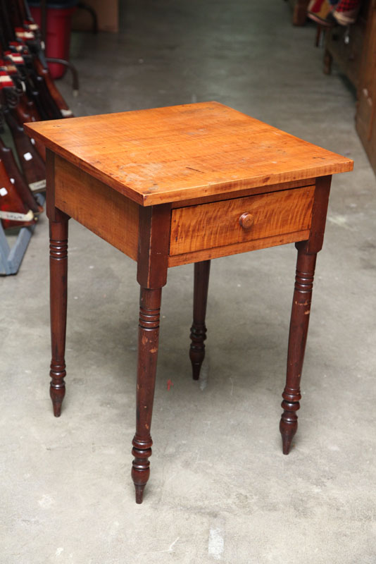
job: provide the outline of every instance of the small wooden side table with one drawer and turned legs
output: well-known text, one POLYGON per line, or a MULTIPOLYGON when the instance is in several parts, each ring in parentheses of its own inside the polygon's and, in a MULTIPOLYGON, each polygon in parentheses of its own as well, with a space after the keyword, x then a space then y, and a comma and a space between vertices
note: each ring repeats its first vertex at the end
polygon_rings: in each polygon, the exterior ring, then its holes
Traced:
POLYGON ((137 503, 149 479, 168 268, 195 263, 190 357, 197 379, 205 352, 210 260, 294 242, 298 259, 280 422, 283 452, 289 453, 331 175, 350 171, 352 161, 217 102, 27 123, 25 129, 47 148, 54 415, 60 415, 65 394, 70 217, 137 261, 141 293, 132 450, 137 503))

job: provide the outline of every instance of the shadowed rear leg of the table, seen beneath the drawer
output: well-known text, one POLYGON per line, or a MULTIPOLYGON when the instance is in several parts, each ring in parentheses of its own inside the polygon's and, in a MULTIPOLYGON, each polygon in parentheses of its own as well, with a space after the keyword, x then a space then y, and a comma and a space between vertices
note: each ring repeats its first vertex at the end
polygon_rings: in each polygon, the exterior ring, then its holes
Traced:
POLYGON ((201 364, 205 357, 205 344, 203 341, 206 339, 205 316, 210 270, 210 260, 194 263, 192 343, 189 348, 189 358, 192 362, 192 376, 194 380, 199 379, 201 364))

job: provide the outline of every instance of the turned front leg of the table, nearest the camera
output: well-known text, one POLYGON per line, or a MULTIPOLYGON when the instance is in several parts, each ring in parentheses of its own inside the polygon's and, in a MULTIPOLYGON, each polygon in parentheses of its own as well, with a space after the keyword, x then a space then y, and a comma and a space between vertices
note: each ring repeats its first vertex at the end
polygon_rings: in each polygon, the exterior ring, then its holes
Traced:
POLYGON ((153 412, 162 289, 141 288, 139 300, 139 354, 137 367, 136 434, 132 445, 132 479, 136 503, 142 503, 150 475, 150 427, 153 412))

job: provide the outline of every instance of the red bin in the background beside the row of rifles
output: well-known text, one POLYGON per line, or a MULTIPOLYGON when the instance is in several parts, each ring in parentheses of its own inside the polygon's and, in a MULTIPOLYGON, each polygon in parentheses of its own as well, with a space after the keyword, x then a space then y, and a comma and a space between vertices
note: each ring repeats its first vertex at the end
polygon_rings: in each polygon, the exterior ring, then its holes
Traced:
MULTIPOLYGON (((69 60, 70 22, 76 8, 47 8, 46 57, 69 60)), ((41 26, 41 9, 30 6, 32 18, 41 26)), ((61 78, 66 67, 49 63, 52 78, 61 78)))

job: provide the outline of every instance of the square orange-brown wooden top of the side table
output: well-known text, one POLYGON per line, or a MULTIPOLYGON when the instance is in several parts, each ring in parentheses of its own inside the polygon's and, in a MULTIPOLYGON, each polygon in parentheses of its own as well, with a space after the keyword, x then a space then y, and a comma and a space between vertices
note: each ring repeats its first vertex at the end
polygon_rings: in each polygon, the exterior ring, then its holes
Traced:
POLYGON ((218 102, 25 124, 68 161, 149 206, 352 169, 218 102))

